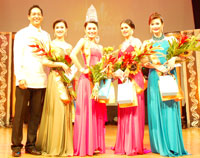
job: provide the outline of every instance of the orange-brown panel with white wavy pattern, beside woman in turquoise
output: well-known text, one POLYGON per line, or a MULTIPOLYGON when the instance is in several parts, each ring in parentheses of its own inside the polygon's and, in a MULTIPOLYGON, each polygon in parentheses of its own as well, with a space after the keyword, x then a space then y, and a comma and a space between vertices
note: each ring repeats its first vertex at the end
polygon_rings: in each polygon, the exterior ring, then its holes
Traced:
MULTIPOLYGON (((200 39, 200 29, 181 31, 200 39)), ((200 44, 200 43, 199 43, 200 44)), ((200 127, 200 52, 193 52, 189 62, 183 64, 185 103, 188 127, 200 127)))

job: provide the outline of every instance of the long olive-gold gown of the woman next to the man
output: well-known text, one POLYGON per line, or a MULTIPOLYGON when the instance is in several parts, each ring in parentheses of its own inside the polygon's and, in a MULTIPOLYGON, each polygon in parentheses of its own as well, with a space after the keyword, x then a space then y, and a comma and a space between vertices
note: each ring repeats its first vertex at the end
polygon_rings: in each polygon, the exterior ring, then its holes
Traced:
POLYGON ((56 79, 57 72, 51 70, 36 147, 42 155, 73 156, 72 104, 60 99, 56 79))

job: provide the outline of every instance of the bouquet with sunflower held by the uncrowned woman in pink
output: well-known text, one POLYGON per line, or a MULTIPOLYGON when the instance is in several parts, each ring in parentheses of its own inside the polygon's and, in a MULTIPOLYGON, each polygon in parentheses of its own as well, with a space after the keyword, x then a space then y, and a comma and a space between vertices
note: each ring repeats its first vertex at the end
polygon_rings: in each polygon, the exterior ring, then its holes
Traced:
POLYGON ((114 76, 119 78, 124 84, 127 82, 133 84, 132 89, 134 88, 138 94, 147 88, 147 81, 144 79, 145 85, 140 87, 134 80, 135 75, 138 74, 144 63, 149 62, 150 55, 158 53, 155 50, 162 50, 161 47, 153 47, 152 45, 153 43, 147 42, 142 49, 134 47, 132 51, 124 52, 123 56, 114 65, 114 76))

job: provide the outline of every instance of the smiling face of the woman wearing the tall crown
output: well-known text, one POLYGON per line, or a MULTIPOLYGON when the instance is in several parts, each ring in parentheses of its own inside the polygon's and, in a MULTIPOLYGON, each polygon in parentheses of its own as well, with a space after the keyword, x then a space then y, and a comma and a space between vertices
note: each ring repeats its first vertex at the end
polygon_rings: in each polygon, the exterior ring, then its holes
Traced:
POLYGON ((88 38, 94 39, 98 34, 97 25, 94 23, 88 23, 85 28, 85 34, 88 38))

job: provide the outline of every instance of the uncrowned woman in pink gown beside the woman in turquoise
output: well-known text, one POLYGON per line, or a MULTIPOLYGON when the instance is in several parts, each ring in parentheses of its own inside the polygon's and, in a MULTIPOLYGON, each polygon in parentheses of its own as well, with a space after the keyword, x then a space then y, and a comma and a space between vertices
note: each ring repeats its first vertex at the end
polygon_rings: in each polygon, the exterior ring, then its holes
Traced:
MULTIPOLYGON (((133 37, 135 25, 130 19, 121 22, 121 33, 125 38, 121 45, 118 57, 125 52, 132 52, 134 47, 140 48, 141 41, 133 37)), ((144 89, 144 78, 141 71, 131 76, 137 85, 144 89)), ((121 82, 119 81, 119 84, 121 82)), ((115 154, 137 155, 143 154, 143 138, 145 125, 144 92, 137 93, 138 106, 118 107, 118 129, 115 144, 115 154)))

